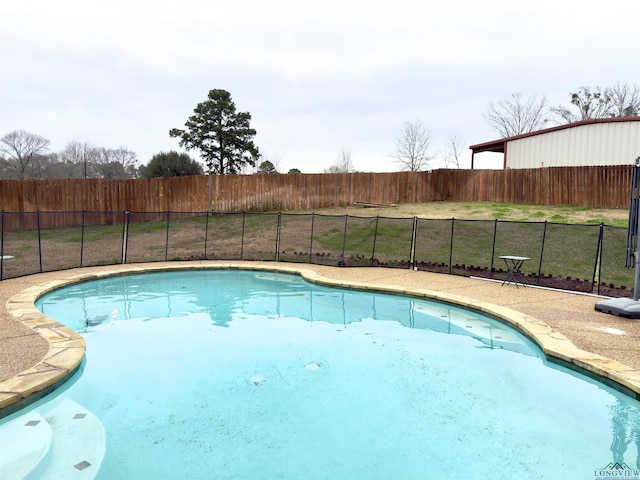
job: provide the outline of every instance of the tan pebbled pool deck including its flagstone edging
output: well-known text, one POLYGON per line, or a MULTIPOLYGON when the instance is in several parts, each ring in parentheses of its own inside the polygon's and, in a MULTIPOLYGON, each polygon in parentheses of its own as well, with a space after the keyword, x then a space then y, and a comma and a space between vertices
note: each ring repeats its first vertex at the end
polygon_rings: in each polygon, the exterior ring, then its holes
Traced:
POLYGON ((596 311, 594 305, 603 297, 393 268, 191 261, 89 267, 0 282, 0 412, 63 379, 80 364, 85 352, 79 334, 35 309, 38 296, 66 283, 113 274, 195 268, 300 273, 317 283, 471 307, 513 325, 547 356, 614 382, 640 398, 640 322, 596 311))

